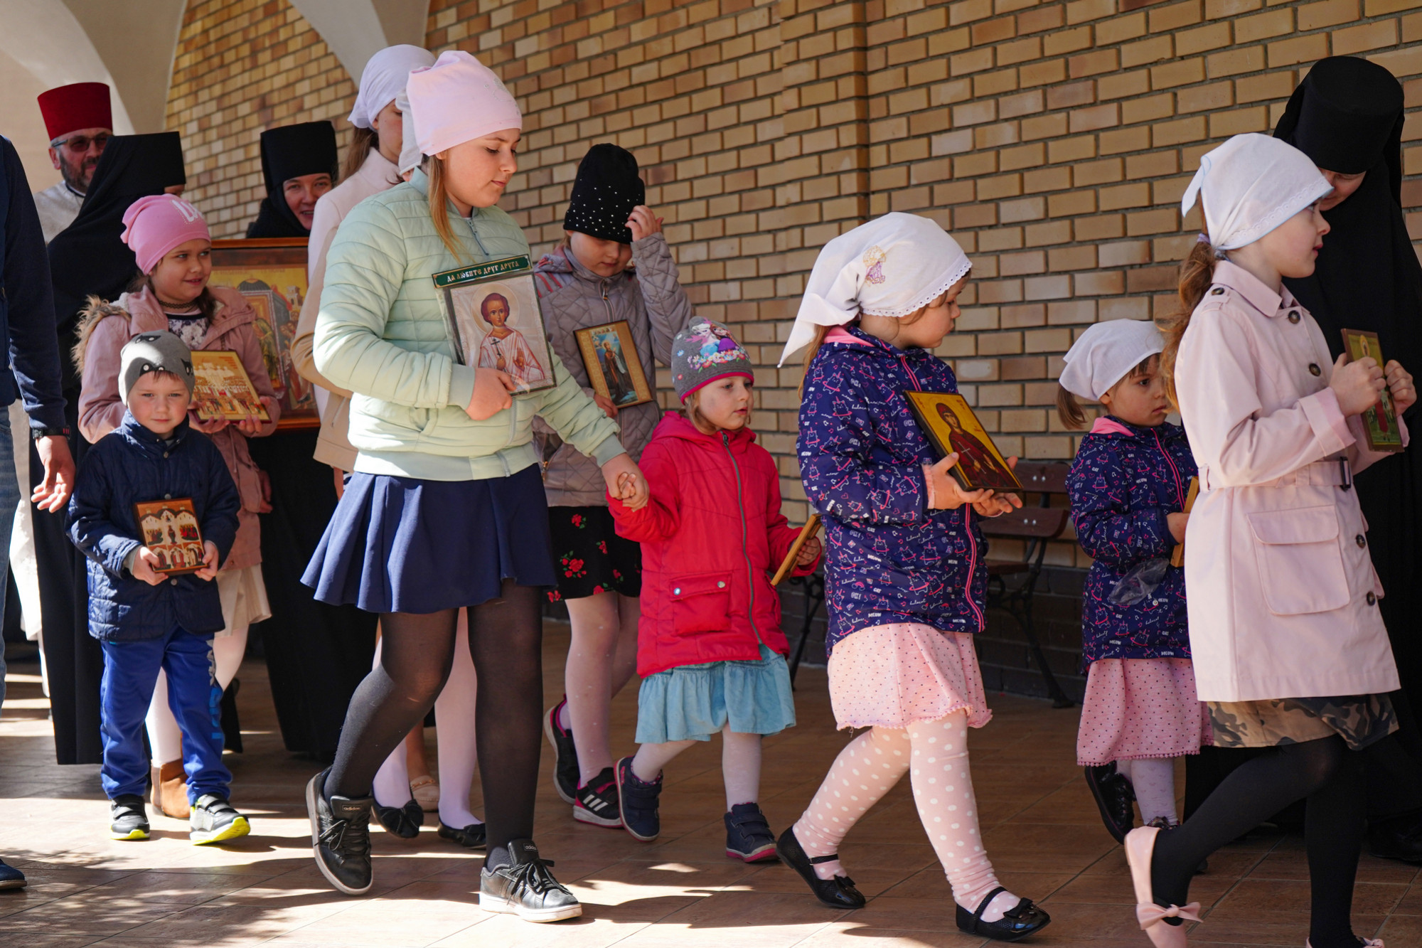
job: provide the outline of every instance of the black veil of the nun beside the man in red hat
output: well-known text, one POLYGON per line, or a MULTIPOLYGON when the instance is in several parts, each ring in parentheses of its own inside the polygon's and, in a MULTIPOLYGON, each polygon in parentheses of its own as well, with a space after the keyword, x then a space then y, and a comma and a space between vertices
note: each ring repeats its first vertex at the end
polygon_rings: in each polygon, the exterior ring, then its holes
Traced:
POLYGON ((178 132, 115 135, 104 148, 74 223, 50 241, 54 322, 60 333, 64 387, 78 384, 68 357, 85 297, 112 300, 138 275, 138 260, 121 239, 124 212, 139 198, 188 184, 178 132))

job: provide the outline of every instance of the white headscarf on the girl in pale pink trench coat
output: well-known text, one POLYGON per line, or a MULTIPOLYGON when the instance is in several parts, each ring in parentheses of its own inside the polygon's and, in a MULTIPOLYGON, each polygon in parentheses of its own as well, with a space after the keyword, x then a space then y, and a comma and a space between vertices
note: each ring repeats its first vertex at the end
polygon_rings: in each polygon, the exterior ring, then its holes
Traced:
POLYGON ((1200 155, 1200 169, 1180 199, 1189 214, 1204 199, 1204 223, 1217 251, 1233 251, 1260 239, 1294 216, 1332 185, 1304 152, 1288 142, 1249 132, 1200 155))

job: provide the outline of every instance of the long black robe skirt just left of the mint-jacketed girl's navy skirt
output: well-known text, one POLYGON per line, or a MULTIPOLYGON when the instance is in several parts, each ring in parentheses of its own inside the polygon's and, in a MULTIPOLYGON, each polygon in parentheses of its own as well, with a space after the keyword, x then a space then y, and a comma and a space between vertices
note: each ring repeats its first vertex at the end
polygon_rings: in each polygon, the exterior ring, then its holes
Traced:
POLYGON ((331 468, 311 457, 316 436, 309 428, 247 441, 252 460, 272 478, 272 512, 262 514, 262 576, 272 618, 252 631, 262 636, 286 749, 330 760, 351 693, 370 673, 375 616, 317 602, 301 585, 301 571, 336 511, 331 468))

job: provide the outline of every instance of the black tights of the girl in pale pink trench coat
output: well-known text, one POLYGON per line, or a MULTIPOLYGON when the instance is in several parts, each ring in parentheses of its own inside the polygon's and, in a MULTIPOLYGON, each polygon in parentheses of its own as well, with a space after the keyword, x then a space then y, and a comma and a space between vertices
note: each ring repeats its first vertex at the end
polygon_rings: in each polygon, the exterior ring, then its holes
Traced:
POLYGON ((1362 754, 1342 737, 1284 744, 1239 767, 1179 828, 1156 837, 1150 885, 1162 905, 1185 905, 1190 878, 1210 853, 1300 799, 1313 894, 1313 948, 1357 948, 1349 915, 1362 848, 1367 793, 1362 754))

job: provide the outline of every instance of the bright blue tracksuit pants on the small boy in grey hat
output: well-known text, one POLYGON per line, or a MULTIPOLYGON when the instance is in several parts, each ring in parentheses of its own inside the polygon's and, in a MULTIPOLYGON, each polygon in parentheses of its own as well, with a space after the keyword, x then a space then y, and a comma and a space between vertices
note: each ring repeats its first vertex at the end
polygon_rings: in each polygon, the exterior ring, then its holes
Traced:
POLYGON ((228 799, 232 771, 222 763, 222 689, 213 668, 212 636, 179 626, 156 639, 104 642, 100 685, 104 793, 109 800, 144 796, 148 784, 144 717, 154 700, 158 669, 168 672, 168 706, 182 730, 188 801, 195 803, 205 793, 228 799))

